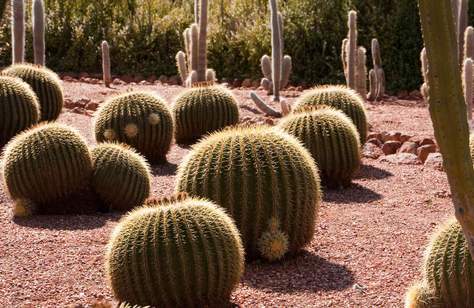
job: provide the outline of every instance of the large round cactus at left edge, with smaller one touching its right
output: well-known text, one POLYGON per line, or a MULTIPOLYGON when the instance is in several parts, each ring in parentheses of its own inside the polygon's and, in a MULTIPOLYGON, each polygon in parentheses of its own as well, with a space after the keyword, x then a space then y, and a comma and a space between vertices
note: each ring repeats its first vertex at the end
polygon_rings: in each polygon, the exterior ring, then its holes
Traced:
POLYGON ((89 184, 92 159, 76 131, 51 123, 17 135, 6 147, 2 167, 6 190, 18 204, 50 206, 89 184))

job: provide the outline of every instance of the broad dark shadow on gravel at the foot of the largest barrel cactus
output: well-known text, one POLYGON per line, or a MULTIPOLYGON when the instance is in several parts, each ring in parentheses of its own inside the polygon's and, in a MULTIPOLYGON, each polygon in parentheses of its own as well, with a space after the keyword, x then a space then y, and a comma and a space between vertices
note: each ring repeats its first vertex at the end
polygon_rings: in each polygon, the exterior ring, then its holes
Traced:
POLYGON ((308 251, 277 263, 255 261, 246 266, 244 284, 273 292, 344 290, 354 284, 352 272, 308 251))

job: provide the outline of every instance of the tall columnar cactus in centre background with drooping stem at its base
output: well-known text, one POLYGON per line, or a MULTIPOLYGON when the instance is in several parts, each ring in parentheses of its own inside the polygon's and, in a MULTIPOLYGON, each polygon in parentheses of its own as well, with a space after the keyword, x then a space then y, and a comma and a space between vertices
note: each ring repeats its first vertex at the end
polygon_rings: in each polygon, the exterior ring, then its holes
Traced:
POLYGON ((269 0, 270 5, 270 27, 272 30, 272 57, 264 55, 261 59, 262 87, 273 94, 273 101, 281 105, 281 113, 268 106, 255 92, 251 98, 257 107, 265 114, 275 117, 290 113, 290 108, 285 100, 280 97, 280 90, 284 89, 289 82, 292 68, 292 60, 288 55, 283 56, 283 16, 278 11, 276 0, 269 0))

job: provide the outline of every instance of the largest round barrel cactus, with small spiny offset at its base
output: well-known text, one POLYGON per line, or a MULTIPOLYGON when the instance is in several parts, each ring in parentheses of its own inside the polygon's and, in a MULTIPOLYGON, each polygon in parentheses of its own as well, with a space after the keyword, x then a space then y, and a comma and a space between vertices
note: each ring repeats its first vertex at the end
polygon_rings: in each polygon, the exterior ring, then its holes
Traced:
POLYGON ((309 243, 320 202, 311 154, 268 127, 226 129, 194 146, 178 170, 177 192, 226 208, 246 256, 273 261, 309 243))

